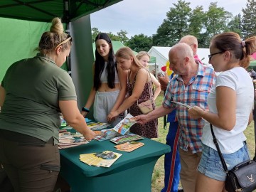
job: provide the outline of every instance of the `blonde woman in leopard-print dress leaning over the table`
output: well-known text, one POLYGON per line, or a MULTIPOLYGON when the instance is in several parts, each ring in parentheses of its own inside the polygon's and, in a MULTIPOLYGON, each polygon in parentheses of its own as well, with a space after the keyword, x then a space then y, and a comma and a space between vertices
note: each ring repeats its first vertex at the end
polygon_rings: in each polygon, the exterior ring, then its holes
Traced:
MULTIPOLYGON (((137 116, 142 114, 139 110, 138 104, 145 102, 146 100, 152 100, 153 108, 156 105, 154 103, 154 95, 151 89, 151 78, 149 71, 139 62, 132 50, 128 47, 120 48, 116 53, 117 65, 124 71, 128 71, 127 78, 127 98, 122 105, 108 115, 108 119, 112 120, 120 113, 129 109, 130 114, 137 116)), ((157 132, 157 119, 154 119, 144 125, 134 124, 130 131, 134 134, 139 134, 142 137, 156 138, 157 132)))

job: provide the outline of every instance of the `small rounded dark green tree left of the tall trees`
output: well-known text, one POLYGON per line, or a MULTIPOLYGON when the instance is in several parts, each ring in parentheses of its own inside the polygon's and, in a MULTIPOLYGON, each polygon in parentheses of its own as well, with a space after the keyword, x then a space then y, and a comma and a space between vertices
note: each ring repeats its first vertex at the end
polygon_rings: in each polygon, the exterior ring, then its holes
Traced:
POLYGON ((144 34, 139 34, 132 36, 127 42, 127 46, 132 50, 139 52, 142 50, 148 51, 153 45, 152 38, 145 36, 144 34))

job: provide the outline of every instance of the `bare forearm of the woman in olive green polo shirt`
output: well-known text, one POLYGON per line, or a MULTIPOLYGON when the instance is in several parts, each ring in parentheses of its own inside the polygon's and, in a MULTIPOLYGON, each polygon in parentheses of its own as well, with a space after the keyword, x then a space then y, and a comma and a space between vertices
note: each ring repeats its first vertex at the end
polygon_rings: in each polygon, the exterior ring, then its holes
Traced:
POLYGON ((78 104, 75 100, 59 101, 60 111, 65 121, 80 132, 88 141, 94 139, 95 133, 87 127, 85 118, 78 110, 78 104))

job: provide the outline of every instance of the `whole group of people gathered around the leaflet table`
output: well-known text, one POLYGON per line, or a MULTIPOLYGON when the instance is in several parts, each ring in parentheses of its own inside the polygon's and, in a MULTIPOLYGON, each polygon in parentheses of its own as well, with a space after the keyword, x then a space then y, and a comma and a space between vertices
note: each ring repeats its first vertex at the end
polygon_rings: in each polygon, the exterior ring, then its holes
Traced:
POLYGON ((53 18, 50 31, 41 36, 38 54, 11 65, 1 80, 0 164, 14 191, 53 191, 60 171, 60 113, 91 141, 95 133, 84 118, 92 105, 94 119, 112 126, 129 112, 137 120, 130 132, 150 139, 158 137, 158 118, 168 115, 166 144, 171 152, 165 155, 161 192, 225 191, 226 173, 210 124, 228 169, 250 159, 243 132, 252 121, 253 77, 246 69, 256 51, 255 36, 245 41, 233 32, 214 36, 208 55, 212 67, 197 55, 197 38, 184 36, 169 51, 173 74, 156 78, 148 69, 148 53, 134 55, 124 47, 114 54, 110 37, 99 33, 93 85, 82 110, 70 75, 60 69, 71 46, 60 18, 53 18), (156 107, 161 90, 164 101, 156 107), (138 106, 146 101, 153 107, 148 114, 138 106), (178 188, 179 180, 183 189, 178 188))

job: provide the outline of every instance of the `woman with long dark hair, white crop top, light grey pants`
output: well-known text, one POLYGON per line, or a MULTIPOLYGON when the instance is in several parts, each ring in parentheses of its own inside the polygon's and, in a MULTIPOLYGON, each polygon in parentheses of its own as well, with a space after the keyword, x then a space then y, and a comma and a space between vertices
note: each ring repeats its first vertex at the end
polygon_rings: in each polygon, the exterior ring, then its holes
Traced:
MULTIPOLYGON (((107 122, 107 115, 117 110, 126 94, 127 72, 117 67, 112 41, 107 33, 100 33, 95 38, 95 63, 93 65, 93 86, 82 115, 85 117, 93 107, 93 117, 98 122, 107 122)), ((112 122, 113 126, 124 118, 124 112, 112 122)))

